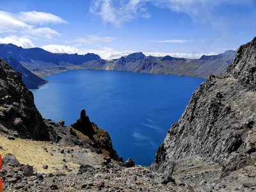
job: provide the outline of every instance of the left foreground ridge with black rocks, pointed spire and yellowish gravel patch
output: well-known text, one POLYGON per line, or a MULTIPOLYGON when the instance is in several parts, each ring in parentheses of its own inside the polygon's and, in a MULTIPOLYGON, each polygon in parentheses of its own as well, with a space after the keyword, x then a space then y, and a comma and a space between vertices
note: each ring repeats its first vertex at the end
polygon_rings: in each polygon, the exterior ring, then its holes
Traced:
POLYGON ((4 191, 188 191, 126 162, 86 112, 70 127, 44 119, 22 76, 0 60, 0 175, 4 191))

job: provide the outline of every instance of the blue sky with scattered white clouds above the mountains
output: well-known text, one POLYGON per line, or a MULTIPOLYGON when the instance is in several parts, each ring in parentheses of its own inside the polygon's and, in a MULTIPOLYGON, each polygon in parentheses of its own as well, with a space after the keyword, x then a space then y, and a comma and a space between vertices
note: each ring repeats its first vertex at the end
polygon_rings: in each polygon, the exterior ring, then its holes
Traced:
POLYGON ((254 36, 255 0, 0 1, 0 43, 51 52, 199 58, 254 36))

